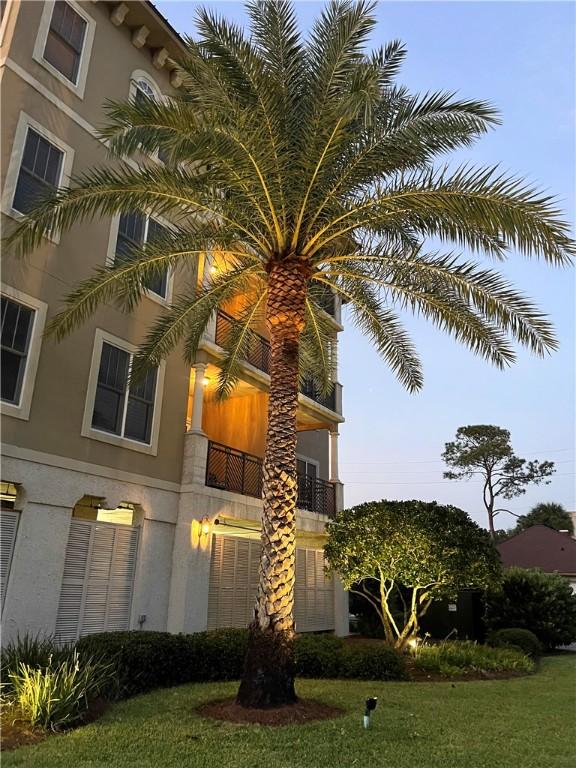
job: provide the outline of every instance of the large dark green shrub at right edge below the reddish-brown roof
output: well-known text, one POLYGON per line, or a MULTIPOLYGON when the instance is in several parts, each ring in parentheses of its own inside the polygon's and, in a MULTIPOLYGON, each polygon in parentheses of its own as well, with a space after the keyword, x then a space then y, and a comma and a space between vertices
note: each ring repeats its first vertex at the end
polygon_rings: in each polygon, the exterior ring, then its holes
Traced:
POLYGON ((545 648, 568 645, 576 640, 576 595, 558 574, 510 568, 487 596, 486 623, 528 629, 545 648))

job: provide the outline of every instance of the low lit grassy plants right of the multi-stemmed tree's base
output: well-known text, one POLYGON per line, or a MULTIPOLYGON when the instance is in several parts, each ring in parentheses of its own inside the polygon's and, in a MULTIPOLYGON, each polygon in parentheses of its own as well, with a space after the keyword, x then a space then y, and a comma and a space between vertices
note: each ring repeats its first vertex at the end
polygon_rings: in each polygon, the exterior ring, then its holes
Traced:
POLYGON ((470 641, 421 646, 414 666, 424 672, 453 675, 473 672, 533 672, 534 662, 516 648, 491 648, 470 641))

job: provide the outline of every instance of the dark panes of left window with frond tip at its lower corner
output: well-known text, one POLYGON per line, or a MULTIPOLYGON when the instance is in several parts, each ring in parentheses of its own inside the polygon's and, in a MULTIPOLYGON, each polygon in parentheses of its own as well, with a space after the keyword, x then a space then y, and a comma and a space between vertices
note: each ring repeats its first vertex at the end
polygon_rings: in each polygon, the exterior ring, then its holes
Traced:
POLYGON ((28 126, 12 208, 28 213, 49 197, 62 176, 64 152, 28 126))

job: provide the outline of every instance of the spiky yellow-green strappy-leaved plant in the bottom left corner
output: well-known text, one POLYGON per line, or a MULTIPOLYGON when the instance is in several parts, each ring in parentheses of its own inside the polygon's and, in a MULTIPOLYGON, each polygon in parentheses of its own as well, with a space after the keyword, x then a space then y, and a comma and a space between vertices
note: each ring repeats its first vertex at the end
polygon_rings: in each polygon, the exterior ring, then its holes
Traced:
POLYGON ((111 665, 81 658, 76 651, 58 663, 49 659, 45 667, 20 663, 9 673, 8 702, 31 725, 60 730, 82 720, 111 673, 111 665))

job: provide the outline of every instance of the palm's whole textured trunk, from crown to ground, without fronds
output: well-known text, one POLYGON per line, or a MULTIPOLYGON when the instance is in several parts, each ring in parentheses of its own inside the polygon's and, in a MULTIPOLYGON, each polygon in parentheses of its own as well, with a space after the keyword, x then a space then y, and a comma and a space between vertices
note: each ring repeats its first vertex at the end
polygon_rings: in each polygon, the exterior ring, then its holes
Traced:
POLYGON ((304 329, 308 275, 298 261, 276 262, 268 281, 270 399, 264 456, 262 556, 254 621, 237 702, 275 707, 294 690, 294 579, 298 347, 304 329))

